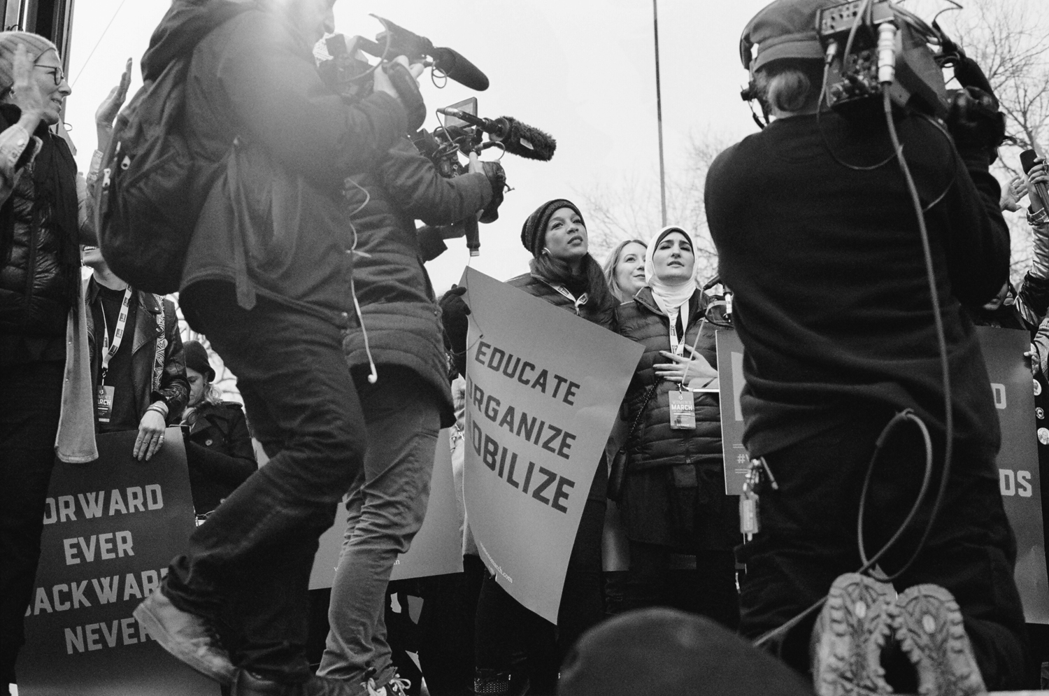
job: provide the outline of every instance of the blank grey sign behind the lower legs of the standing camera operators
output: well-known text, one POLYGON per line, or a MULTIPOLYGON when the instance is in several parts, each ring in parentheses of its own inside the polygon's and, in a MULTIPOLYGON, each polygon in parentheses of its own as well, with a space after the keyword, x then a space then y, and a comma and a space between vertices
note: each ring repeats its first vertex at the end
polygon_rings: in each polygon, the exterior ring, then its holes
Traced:
MULTIPOLYGON (((450 429, 446 428, 437 434, 437 449, 433 459, 433 473, 430 477, 430 500, 426 506, 426 518, 408 552, 399 555, 394 562, 390 581, 463 571, 463 535, 459 532, 458 509, 455 503, 450 442, 450 429)), ((320 548, 314 556, 314 569, 309 575, 311 590, 331 587, 345 532, 346 506, 340 503, 335 524, 321 535, 320 548)))

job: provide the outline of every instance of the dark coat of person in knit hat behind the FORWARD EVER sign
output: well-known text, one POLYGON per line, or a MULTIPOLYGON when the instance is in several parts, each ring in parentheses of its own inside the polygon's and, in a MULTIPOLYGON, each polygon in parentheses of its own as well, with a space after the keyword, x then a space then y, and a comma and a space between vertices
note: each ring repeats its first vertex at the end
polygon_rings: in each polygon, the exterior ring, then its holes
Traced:
POLYGON ((239 403, 201 403, 190 419, 186 462, 197 514, 214 510, 258 469, 248 421, 239 403))

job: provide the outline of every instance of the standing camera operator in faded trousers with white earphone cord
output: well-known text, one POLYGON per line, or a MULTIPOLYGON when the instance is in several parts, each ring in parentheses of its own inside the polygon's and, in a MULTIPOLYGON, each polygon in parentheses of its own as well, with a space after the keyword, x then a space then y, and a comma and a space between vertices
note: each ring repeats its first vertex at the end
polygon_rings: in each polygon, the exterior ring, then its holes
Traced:
POLYGON ((344 245, 360 252, 352 288, 360 314, 343 345, 372 446, 349 487, 318 674, 403 694, 407 680, 386 640, 386 586, 426 515, 438 431, 455 424, 441 309, 415 219, 452 225, 497 205, 501 167, 471 154, 468 173, 445 178, 403 136, 372 171, 346 181, 345 196, 344 245))

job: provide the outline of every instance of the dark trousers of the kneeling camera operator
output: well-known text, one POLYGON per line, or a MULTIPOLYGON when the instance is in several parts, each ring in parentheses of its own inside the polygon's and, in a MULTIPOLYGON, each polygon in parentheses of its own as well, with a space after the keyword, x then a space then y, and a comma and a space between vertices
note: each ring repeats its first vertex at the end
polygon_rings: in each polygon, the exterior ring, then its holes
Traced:
MULTIPOLYGON (((779 490, 759 488, 762 530, 736 549, 747 565, 741 627, 754 638, 822 597, 834 578, 860 567, 856 515, 874 442, 892 413, 872 408, 801 443, 766 457, 779 490)), ((934 434, 934 443, 943 441, 934 434)), ((1002 507, 994 454, 956 446, 943 506, 921 554, 894 581, 897 591, 932 583, 958 599, 977 662, 991 691, 1019 689, 1025 659, 1024 613, 1012 579, 1015 540, 1002 507)), ((911 557, 926 528, 943 452, 935 452, 932 490, 915 523, 879 564, 893 573, 911 557)), ((883 447, 866 502, 864 534, 875 553, 913 504, 924 471, 917 428, 901 426, 883 447)), ((778 646, 788 663, 809 669, 813 619, 778 646)))

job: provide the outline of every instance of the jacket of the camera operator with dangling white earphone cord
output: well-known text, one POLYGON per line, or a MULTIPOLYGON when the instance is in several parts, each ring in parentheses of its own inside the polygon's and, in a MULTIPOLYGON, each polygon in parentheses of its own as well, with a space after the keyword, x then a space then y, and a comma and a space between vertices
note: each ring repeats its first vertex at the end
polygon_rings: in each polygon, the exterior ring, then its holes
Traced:
MULTIPOLYGON (((476 214, 492 198, 481 173, 444 178, 407 138, 400 139, 374 172, 351 176, 346 206, 357 211, 343 244, 362 252, 354 259, 354 283, 372 358, 408 367, 445 401, 442 426, 455 422, 448 386, 448 359, 441 308, 423 268, 415 219, 449 225, 476 214), (363 206, 363 208, 361 208, 363 206), (357 210, 360 208, 360 210, 357 210)), ((343 347, 355 374, 368 370, 364 333, 356 316, 343 347)))

